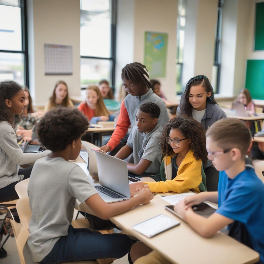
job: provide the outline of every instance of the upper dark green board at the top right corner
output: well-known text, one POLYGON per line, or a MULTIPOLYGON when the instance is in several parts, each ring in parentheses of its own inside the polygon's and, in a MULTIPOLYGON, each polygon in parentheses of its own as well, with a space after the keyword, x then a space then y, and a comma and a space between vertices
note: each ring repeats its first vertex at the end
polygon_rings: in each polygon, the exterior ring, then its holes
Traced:
POLYGON ((264 50, 264 2, 256 3, 254 50, 264 50))

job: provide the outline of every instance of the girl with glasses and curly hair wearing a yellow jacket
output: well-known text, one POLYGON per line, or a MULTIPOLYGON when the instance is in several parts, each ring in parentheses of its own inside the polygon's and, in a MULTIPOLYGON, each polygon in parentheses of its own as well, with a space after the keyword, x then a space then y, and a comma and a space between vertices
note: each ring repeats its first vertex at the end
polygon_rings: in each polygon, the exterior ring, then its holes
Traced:
POLYGON ((152 192, 206 191, 202 162, 207 162, 205 130, 192 117, 177 116, 169 120, 159 139, 164 157, 156 182, 130 183, 130 195, 137 194, 144 185, 152 192))

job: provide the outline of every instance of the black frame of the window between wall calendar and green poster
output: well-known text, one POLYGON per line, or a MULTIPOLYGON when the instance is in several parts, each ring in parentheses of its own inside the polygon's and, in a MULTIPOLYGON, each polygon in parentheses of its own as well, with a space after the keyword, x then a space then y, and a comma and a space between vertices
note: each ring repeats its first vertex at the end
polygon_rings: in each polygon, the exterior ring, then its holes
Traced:
MULTIPOLYGON (((117 0, 111 0, 111 27, 110 27, 110 57, 98 57, 98 56, 85 56, 81 55, 81 59, 98 59, 98 60, 109 60, 110 63, 110 86, 112 87, 113 93, 115 92, 115 65, 116 65, 116 4, 117 0)), ((86 89, 82 88, 81 89, 86 89)))

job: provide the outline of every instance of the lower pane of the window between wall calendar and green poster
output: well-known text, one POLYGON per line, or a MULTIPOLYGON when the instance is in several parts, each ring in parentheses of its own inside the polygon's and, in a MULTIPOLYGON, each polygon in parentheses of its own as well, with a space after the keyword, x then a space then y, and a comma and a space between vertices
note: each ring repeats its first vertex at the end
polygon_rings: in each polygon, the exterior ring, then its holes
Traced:
POLYGON ((98 84, 101 79, 110 80, 112 61, 81 58, 81 87, 98 84))

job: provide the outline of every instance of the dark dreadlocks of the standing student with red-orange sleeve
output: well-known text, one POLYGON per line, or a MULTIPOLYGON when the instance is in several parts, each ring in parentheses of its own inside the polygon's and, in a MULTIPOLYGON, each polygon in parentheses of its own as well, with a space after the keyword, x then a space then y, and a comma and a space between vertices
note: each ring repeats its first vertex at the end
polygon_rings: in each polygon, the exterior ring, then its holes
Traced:
POLYGON ((146 66, 139 62, 126 64, 122 69, 121 79, 131 80, 135 84, 143 82, 148 88, 151 88, 149 72, 146 69, 146 66))

